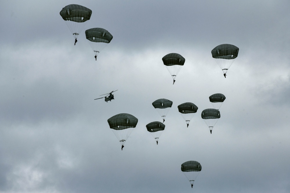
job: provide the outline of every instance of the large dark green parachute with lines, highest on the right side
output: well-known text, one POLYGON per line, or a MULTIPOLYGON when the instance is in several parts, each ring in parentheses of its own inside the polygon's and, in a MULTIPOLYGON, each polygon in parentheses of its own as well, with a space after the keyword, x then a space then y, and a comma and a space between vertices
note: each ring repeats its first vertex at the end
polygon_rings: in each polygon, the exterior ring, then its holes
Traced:
POLYGON ((211 50, 213 58, 226 74, 235 58, 238 57, 239 48, 231 44, 221 44, 211 50))

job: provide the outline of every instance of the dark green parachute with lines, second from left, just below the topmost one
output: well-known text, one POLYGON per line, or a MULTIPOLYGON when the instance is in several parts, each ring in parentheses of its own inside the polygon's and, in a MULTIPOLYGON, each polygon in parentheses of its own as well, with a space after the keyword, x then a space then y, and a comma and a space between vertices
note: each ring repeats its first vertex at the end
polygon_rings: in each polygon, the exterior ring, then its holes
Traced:
POLYGON ((93 51, 95 52, 95 56, 99 54, 99 52, 110 43, 113 39, 112 34, 100 27, 95 27, 86 30, 86 38, 89 40, 90 46, 92 47, 93 51))

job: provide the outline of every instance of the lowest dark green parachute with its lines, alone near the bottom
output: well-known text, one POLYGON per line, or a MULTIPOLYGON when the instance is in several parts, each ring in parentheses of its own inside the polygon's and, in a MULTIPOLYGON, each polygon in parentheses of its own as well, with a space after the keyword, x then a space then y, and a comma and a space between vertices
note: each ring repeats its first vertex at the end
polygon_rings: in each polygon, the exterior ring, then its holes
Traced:
POLYGON ((181 171, 191 183, 192 188, 193 182, 201 171, 201 165, 198 161, 186 161, 181 164, 181 171))

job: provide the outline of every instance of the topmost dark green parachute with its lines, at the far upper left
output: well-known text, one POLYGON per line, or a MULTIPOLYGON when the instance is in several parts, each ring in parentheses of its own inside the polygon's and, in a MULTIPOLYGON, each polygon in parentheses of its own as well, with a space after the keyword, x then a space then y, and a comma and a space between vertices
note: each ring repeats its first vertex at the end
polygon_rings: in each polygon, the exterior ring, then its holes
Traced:
POLYGON ((90 19, 92 10, 82 5, 70 4, 62 8, 59 14, 66 21, 66 25, 74 38, 77 39, 86 24, 84 22, 90 19))

